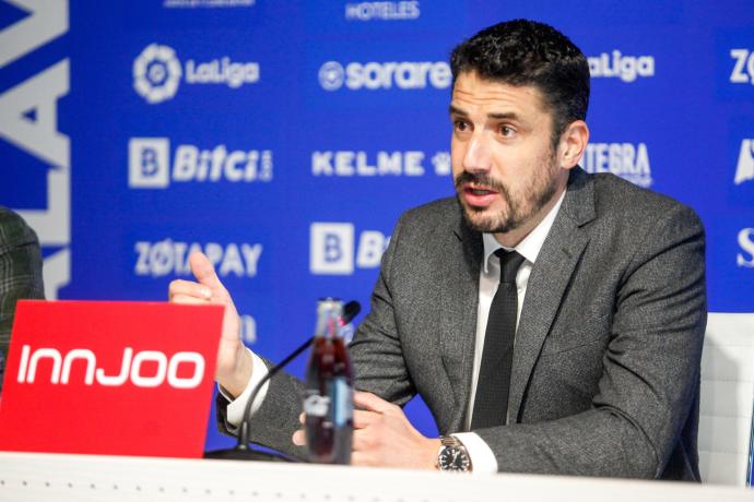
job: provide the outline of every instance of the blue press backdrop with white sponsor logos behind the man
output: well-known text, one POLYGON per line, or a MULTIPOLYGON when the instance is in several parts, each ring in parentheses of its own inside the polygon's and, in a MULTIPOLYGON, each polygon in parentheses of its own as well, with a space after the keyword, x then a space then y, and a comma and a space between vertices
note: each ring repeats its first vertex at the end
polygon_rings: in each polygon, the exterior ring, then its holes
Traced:
MULTIPOLYGON (((452 194, 449 51, 523 16, 590 58, 582 166, 696 208, 709 310, 753 311, 750 0, 59 3, 68 22, 35 25, 48 39, 0 63, 4 93, 69 62, 50 81, 60 89, 37 92, 59 96, 70 162, 46 159, 49 141, 0 142, 1 204, 63 199, 37 229, 46 256, 62 256, 48 285, 59 298, 162 300, 199 247, 247 342, 279 359, 311 333, 317 298, 368 304, 401 212, 452 194)), ((0 29, 26 15, 0 3, 0 29)), ((409 410, 436 431, 421 404, 409 410)), ((211 421, 208 447, 227 442, 211 421)))

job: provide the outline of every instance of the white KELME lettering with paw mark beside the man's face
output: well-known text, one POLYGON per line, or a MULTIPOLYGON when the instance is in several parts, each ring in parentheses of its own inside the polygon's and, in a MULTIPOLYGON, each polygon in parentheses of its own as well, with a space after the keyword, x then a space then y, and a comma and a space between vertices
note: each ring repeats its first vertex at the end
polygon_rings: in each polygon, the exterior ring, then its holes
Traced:
MULTIPOLYGON (((364 151, 315 151, 311 153, 311 175, 322 177, 385 177, 424 176, 426 172, 424 152, 378 151, 369 155, 364 151)), ((431 157, 434 172, 448 176, 451 172, 450 154, 437 152, 431 157)))

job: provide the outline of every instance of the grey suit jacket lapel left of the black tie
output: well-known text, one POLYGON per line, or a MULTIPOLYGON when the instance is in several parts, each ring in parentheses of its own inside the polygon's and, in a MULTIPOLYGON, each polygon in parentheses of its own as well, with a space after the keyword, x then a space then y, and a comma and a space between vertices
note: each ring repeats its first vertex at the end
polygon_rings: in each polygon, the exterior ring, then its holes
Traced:
POLYGON ((443 276, 440 304, 443 366, 453 392, 449 430, 458 431, 463 428, 462 420, 471 392, 479 304, 479 273, 484 246, 482 236, 470 230, 462 223, 460 208, 459 224, 450 239, 451 249, 446 250, 447 268, 437 273, 443 276))

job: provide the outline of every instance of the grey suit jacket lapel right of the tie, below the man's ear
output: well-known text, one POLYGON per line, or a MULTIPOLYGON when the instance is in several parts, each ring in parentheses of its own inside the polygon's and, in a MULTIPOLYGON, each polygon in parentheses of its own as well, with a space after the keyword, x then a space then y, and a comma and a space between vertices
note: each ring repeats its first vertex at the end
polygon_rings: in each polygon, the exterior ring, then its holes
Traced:
POLYGON ((580 227, 594 218, 593 181, 581 168, 572 170, 561 211, 529 276, 516 333, 508 410, 517 421, 531 370, 555 319, 570 276, 589 242, 580 227))

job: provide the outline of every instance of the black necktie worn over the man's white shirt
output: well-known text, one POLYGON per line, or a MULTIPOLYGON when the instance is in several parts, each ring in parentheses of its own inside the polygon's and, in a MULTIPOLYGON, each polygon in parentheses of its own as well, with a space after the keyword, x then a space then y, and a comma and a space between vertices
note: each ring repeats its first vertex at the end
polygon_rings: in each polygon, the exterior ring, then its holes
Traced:
POLYGON ((504 426, 508 414, 518 313, 516 273, 523 256, 504 249, 495 251, 495 255, 500 259, 500 284, 490 307, 471 430, 504 426))

